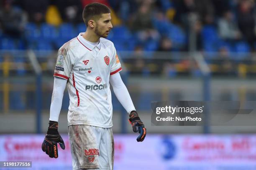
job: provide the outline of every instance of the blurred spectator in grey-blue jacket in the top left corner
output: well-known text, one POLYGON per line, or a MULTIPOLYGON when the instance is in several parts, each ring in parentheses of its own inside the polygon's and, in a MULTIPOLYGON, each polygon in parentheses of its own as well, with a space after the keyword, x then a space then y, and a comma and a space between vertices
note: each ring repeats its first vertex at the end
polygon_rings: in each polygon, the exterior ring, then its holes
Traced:
POLYGON ((12 0, 5 0, 0 10, 0 28, 5 35, 20 38, 27 23, 26 14, 12 6, 12 0))

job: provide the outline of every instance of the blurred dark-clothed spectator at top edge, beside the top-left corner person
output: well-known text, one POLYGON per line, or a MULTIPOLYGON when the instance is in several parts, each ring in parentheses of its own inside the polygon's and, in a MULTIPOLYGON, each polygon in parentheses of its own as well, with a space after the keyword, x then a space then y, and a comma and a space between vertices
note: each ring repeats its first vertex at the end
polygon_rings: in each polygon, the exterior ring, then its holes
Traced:
POLYGON ((30 22, 41 24, 45 21, 45 14, 49 5, 48 0, 23 0, 20 3, 28 13, 30 22))

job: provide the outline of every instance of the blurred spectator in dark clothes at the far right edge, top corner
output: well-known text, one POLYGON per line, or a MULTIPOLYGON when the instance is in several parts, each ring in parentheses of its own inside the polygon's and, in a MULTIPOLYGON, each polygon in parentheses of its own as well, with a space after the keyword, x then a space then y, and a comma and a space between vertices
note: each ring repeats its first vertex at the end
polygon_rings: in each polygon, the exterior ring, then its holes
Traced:
POLYGON ((255 15, 253 13, 253 2, 242 0, 238 5, 238 27, 243 37, 248 41, 251 50, 254 49, 255 42, 255 15))

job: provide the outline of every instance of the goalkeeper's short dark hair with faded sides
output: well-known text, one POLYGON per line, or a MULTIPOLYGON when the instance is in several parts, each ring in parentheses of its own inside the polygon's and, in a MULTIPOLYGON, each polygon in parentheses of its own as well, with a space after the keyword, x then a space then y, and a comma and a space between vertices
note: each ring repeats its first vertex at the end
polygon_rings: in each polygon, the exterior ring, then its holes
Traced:
POLYGON ((109 7, 104 4, 93 2, 84 7, 83 20, 86 26, 91 19, 98 19, 102 14, 110 13, 109 7))

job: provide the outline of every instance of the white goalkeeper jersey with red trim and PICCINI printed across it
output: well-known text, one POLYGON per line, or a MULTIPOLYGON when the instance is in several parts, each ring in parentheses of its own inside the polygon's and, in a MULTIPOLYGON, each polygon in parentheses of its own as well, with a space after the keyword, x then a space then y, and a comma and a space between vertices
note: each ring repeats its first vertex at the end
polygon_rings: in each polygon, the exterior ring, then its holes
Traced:
POLYGON ((109 78, 122 70, 113 42, 95 46, 79 33, 58 51, 54 76, 67 79, 68 125, 113 126, 109 78))

